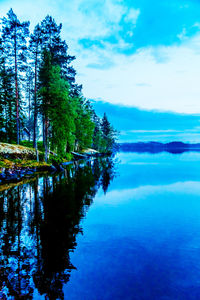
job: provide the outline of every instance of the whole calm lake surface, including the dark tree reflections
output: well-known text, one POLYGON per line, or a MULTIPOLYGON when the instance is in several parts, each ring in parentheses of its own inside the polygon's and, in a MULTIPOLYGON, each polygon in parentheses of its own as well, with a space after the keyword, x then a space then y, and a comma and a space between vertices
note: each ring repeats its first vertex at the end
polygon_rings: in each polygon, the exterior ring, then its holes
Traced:
POLYGON ((0 299, 200 299, 200 153, 120 153, 0 189, 0 299))

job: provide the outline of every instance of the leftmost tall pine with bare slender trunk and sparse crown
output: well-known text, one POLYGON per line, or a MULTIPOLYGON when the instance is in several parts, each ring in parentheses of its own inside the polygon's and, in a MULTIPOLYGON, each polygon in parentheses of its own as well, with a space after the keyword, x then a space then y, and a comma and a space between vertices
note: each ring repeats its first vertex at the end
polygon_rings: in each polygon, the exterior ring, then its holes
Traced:
POLYGON ((12 9, 9 10, 7 18, 4 17, 2 19, 2 40, 3 46, 7 51, 6 64, 9 63, 14 70, 17 144, 19 144, 20 140, 20 71, 23 71, 25 67, 26 38, 29 35, 28 28, 29 22, 21 23, 12 9))

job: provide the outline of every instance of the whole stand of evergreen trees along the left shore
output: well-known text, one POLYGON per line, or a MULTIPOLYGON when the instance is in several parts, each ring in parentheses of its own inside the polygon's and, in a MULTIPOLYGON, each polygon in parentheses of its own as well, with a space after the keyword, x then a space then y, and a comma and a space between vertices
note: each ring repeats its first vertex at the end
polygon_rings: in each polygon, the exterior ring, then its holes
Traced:
POLYGON ((21 22, 12 9, 0 24, 1 142, 43 141, 64 156, 92 147, 111 152, 116 132, 104 114, 100 119, 76 83, 75 57, 61 38, 62 24, 51 16, 37 24, 21 22))

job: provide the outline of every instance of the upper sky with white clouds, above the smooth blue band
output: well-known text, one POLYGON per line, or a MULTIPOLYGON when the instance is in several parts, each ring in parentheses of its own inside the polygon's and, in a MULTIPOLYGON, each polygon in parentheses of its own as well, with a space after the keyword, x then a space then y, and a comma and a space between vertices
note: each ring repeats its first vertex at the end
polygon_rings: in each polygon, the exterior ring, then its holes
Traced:
POLYGON ((11 7, 63 24, 85 97, 200 115, 200 0, 0 0, 0 17, 11 7))

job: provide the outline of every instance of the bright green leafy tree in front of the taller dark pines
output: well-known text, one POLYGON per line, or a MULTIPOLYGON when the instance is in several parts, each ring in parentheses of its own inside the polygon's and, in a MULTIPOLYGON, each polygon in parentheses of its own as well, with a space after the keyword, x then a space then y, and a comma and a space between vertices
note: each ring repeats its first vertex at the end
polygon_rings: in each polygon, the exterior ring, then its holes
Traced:
POLYGON ((50 144, 53 150, 63 155, 67 145, 74 142, 75 108, 73 99, 69 96, 69 84, 61 77, 60 67, 52 64, 51 53, 46 49, 39 75, 47 160, 50 144))

